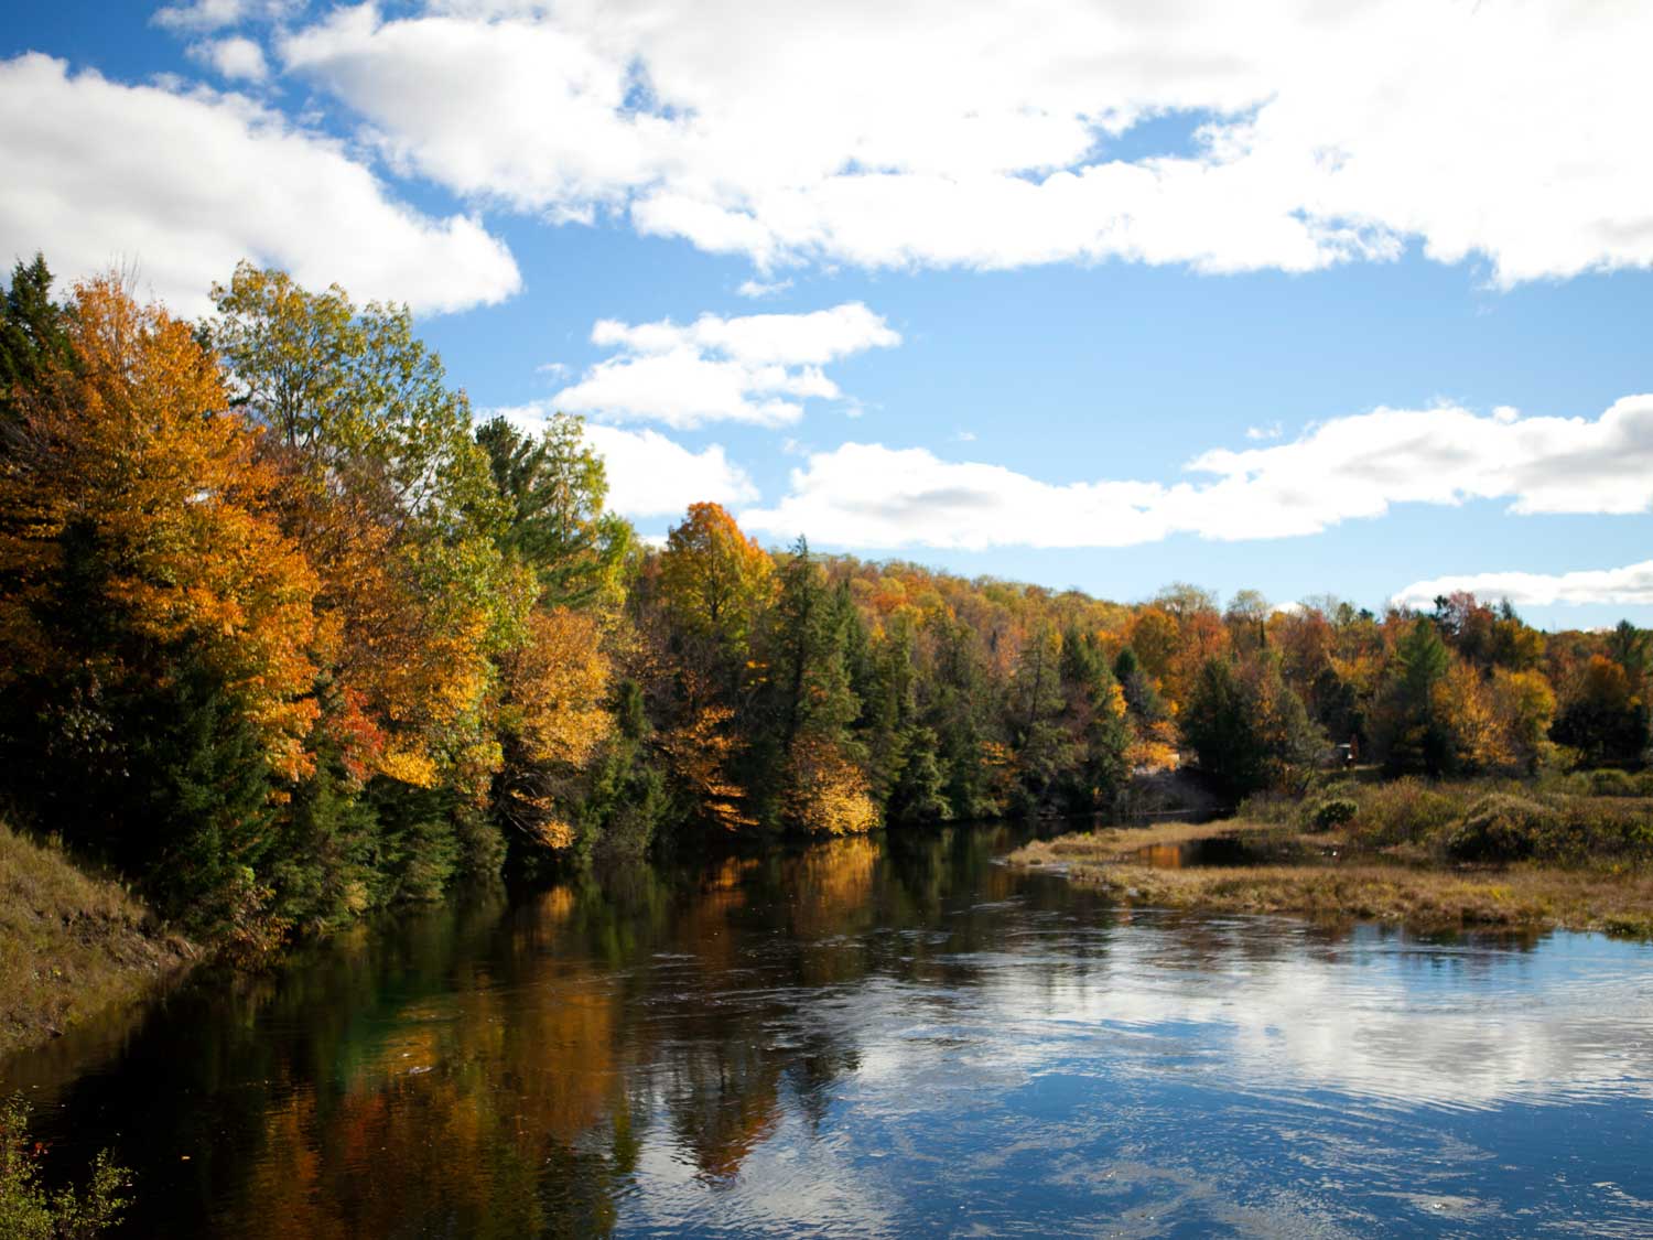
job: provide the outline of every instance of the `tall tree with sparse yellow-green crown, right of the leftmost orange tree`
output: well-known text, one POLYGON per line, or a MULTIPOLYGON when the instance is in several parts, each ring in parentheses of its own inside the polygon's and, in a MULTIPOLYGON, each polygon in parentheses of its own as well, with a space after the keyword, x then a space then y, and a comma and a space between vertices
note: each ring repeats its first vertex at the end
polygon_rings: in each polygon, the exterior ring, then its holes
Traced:
POLYGON ((377 741, 370 775, 481 795, 491 656, 532 592, 496 544, 506 509, 464 393, 405 306, 357 309, 248 263, 213 299, 233 400, 268 428, 261 455, 284 479, 283 527, 321 570, 332 699, 359 716, 327 727, 377 741))

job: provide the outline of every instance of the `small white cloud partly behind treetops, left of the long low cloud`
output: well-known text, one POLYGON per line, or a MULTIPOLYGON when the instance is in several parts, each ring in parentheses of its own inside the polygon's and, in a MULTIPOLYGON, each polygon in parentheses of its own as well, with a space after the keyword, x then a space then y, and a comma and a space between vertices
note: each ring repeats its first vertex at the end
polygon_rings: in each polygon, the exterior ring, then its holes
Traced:
MULTIPOLYGON (((489 410, 537 435, 545 418, 560 405, 536 403, 489 410)), ((608 466, 608 508, 628 517, 681 516, 689 504, 746 504, 757 499, 757 488, 746 470, 734 465, 722 445, 699 451, 684 448, 658 430, 625 430, 587 423, 585 440, 608 466)))

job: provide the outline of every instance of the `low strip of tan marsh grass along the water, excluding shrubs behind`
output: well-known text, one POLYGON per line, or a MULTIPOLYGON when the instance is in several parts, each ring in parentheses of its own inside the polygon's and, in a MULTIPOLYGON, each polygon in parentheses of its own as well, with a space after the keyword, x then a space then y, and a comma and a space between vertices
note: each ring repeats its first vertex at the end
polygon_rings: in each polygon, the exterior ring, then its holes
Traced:
POLYGON ((1061 870, 1129 904, 1389 921, 1417 929, 1574 929, 1653 937, 1653 870, 1539 861, 1468 865, 1415 845, 1227 820, 1124 827, 1036 840, 1007 858, 1061 870), (1222 848, 1202 848, 1218 842, 1222 848), (1223 855, 1202 863, 1202 851, 1223 855))

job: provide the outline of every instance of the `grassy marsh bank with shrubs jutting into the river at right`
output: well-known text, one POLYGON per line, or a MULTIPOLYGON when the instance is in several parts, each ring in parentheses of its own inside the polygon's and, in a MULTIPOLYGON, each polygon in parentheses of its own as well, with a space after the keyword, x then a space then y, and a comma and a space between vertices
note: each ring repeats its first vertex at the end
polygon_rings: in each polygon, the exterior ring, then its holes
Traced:
POLYGON ((1398 780, 1041 840, 1010 861, 1160 908, 1653 936, 1653 800, 1635 792, 1398 780), (1225 863, 1202 863, 1202 840, 1225 863))

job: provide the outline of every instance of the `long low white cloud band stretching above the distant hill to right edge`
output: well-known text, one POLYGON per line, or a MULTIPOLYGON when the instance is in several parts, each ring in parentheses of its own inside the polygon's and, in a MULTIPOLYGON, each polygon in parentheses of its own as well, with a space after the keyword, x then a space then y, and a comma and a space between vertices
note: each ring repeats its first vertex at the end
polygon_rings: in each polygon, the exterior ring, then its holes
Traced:
POLYGON ((792 471, 742 524, 851 547, 1124 547, 1172 534, 1240 541, 1314 534, 1392 504, 1504 499, 1512 513, 1645 513, 1653 506, 1653 395, 1598 418, 1379 408, 1291 443, 1213 450, 1195 481, 1046 483, 924 448, 846 443, 792 471))

